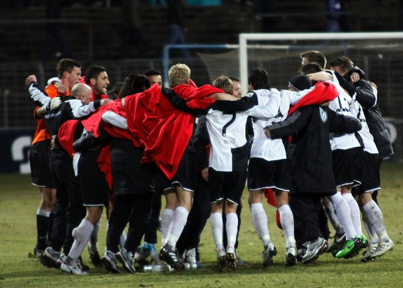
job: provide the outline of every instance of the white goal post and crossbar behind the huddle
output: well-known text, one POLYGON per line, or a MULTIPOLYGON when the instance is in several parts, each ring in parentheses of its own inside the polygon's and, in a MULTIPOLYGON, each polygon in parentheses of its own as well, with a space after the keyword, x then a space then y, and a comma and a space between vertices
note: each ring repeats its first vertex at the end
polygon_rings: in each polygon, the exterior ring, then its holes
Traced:
MULTIPOLYGON (((264 40, 276 44, 281 40, 360 40, 403 39, 403 32, 348 32, 348 33, 241 33, 239 34, 239 74, 242 91, 248 89, 248 41, 264 40)), ((266 43, 265 43, 266 44, 266 43)))

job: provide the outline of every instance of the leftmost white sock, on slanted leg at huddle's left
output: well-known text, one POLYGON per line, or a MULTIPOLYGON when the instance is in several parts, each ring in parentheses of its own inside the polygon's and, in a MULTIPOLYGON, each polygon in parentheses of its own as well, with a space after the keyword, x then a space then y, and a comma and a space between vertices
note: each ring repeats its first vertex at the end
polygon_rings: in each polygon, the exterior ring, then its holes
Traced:
POLYGON ((74 242, 70 249, 69 257, 72 259, 71 263, 75 263, 83 252, 91 233, 94 230, 94 225, 87 219, 83 219, 76 228, 73 229, 74 242))

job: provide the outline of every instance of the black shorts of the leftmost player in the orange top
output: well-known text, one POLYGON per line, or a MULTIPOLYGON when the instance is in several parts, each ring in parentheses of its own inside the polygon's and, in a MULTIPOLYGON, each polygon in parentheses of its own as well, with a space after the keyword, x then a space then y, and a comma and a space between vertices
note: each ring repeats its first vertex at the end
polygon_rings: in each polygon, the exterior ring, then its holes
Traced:
POLYGON ((39 141, 31 146, 29 163, 32 184, 44 188, 56 188, 49 166, 50 139, 39 141))

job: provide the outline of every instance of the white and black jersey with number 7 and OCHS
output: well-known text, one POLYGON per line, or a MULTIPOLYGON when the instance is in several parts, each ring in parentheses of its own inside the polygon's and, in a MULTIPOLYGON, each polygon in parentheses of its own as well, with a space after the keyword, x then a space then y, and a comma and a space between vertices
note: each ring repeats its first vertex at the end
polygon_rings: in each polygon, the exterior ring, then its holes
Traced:
POLYGON ((209 167, 217 171, 245 170, 249 158, 246 122, 249 116, 270 119, 276 116, 280 105, 280 93, 276 89, 245 97, 257 96, 258 104, 245 112, 227 113, 210 109, 206 125, 211 141, 209 167))

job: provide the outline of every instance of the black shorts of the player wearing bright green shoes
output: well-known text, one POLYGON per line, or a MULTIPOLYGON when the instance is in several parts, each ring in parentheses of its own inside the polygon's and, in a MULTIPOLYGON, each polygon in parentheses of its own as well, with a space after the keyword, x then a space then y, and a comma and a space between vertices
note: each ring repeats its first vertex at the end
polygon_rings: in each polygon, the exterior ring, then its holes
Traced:
POLYGON ((361 147, 332 151, 333 175, 336 187, 361 184, 364 150, 361 147))

